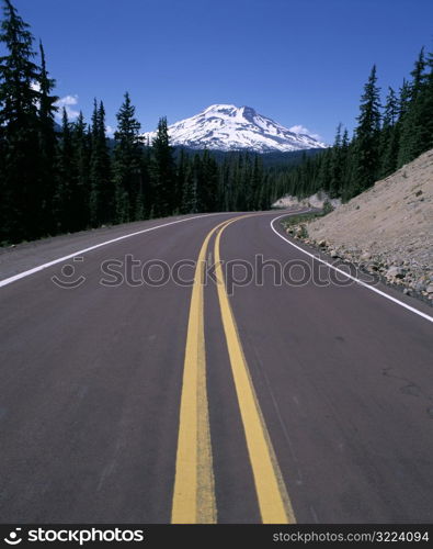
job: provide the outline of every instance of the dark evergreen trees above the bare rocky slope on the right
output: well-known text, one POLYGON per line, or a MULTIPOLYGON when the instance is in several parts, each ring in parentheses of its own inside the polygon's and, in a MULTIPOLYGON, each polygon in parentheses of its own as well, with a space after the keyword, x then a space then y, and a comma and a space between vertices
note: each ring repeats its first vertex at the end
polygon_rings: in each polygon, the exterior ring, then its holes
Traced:
POLYGON ((320 190, 347 201, 433 147, 433 54, 424 48, 410 80, 388 88, 384 105, 376 66, 361 97, 352 138, 341 124, 334 145, 277 176, 274 193, 308 197, 320 190))

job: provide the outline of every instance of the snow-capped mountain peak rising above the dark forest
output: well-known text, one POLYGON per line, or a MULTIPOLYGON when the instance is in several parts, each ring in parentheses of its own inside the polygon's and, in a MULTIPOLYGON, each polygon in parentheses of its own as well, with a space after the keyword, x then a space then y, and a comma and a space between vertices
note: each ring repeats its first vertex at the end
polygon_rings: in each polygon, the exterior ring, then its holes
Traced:
MULTIPOLYGON (((155 135, 148 132, 141 138, 151 143, 155 135)), ((269 153, 327 147, 310 135, 292 132, 259 114, 251 107, 232 104, 214 104, 191 119, 181 120, 169 126, 169 135, 172 145, 196 149, 269 153)))

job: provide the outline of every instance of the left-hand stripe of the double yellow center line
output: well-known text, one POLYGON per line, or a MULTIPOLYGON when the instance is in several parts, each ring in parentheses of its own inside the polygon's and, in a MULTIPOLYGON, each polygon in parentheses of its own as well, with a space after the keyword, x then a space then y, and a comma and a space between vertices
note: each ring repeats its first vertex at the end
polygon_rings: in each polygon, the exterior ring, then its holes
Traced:
POLYGON ((171 512, 174 524, 208 524, 216 523, 217 518, 206 391, 203 282, 208 242, 215 231, 229 221, 220 223, 206 236, 194 274, 171 512))

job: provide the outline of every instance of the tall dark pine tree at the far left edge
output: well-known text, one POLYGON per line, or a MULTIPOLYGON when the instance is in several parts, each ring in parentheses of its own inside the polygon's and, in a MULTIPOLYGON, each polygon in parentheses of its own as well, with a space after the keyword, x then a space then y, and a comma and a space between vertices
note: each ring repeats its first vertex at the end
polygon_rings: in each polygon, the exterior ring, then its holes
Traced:
POLYGON ((1 236, 19 242, 39 236, 43 193, 38 178, 39 122, 33 35, 10 0, 4 0, 0 42, 0 142, 2 152, 1 236))

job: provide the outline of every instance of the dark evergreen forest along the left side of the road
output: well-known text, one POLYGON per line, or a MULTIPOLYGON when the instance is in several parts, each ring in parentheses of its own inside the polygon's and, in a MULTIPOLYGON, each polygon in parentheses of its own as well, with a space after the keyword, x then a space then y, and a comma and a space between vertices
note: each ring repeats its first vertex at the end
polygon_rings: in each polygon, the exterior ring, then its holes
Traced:
POLYGON ((90 123, 62 110, 56 124, 55 80, 42 43, 10 0, 3 0, 0 45, 0 243, 73 232, 103 224, 224 210, 269 208, 269 175, 261 159, 208 153, 174 154, 167 120, 151 146, 129 94, 117 113, 114 141, 105 110, 94 102, 90 123), (38 63, 36 63, 38 59, 38 63))

